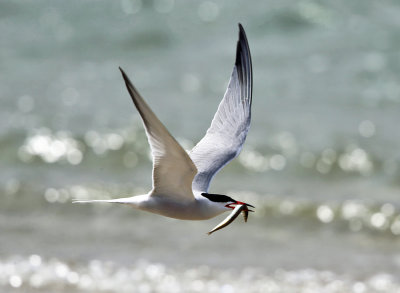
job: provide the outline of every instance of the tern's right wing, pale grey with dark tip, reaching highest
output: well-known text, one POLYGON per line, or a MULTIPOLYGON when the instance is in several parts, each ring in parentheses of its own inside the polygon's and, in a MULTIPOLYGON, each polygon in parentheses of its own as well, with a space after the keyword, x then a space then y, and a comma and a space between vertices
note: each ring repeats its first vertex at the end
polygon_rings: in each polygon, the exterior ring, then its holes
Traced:
POLYGON ((198 173, 193 190, 207 192, 214 175, 241 151, 250 127, 253 73, 246 33, 239 24, 236 62, 210 128, 189 153, 198 173))

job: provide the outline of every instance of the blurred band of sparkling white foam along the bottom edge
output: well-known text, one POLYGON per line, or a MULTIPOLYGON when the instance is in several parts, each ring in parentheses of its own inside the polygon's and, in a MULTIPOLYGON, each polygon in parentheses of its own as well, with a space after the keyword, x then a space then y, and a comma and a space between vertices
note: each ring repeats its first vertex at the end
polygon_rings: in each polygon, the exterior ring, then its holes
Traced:
POLYGON ((112 261, 87 263, 37 254, 0 259, 0 288, 16 292, 398 292, 399 280, 385 272, 356 278, 312 268, 288 271, 263 268, 168 267, 138 260, 130 266, 112 261))

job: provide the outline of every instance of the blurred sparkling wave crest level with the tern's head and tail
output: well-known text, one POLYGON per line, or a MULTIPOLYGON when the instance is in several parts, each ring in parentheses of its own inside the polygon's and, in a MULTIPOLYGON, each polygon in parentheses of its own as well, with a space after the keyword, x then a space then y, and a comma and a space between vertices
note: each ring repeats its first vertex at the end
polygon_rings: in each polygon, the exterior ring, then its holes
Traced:
MULTIPOLYGON (((4 195, 5 209, 32 209, 34 206, 57 205, 62 209, 75 209, 74 199, 112 199, 115 194, 143 194, 143 187, 131 185, 95 184, 47 187, 44 190, 10 180, 0 193, 4 195)), ((400 236, 400 210, 392 202, 377 200, 346 199, 320 201, 294 199, 272 194, 256 194, 248 191, 228 191, 233 198, 240 198, 256 206, 252 217, 261 221, 284 226, 288 223, 305 223, 312 231, 324 227, 347 233, 373 233, 374 236, 400 236)), ((89 209, 111 209, 113 205, 89 205, 89 209)))

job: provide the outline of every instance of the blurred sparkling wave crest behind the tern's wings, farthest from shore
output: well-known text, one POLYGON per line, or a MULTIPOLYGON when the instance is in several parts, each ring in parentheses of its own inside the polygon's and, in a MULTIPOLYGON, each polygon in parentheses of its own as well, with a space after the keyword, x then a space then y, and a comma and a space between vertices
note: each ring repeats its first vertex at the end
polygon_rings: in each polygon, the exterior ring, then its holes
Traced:
MULTIPOLYGON (((360 131, 366 132, 364 135, 370 135, 372 131, 369 122, 360 124, 360 131)), ((387 158, 384 153, 375 153, 357 140, 310 150, 300 147, 289 132, 273 137, 264 147, 246 146, 233 163, 235 169, 257 174, 287 172, 326 178, 384 176, 393 184, 400 176, 396 159, 387 158)), ((20 140, 13 139, 13 143, 20 140)), ((194 146, 194 142, 188 139, 178 138, 178 141, 185 149, 194 146)), ((26 164, 92 165, 95 160, 108 158, 115 161, 110 167, 130 169, 138 167, 141 162, 151 161, 150 148, 140 123, 123 129, 88 130, 83 135, 42 127, 26 133, 19 146, 10 144, 9 137, 0 138, 0 145, 6 150, 12 148, 14 157, 26 164)))

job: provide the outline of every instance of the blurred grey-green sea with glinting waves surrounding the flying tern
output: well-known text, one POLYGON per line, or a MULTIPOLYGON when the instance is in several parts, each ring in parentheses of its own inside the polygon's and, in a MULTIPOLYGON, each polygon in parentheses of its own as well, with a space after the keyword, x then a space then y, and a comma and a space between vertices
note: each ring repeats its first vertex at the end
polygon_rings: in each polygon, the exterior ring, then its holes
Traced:
POLYGON ((400 292, 398 1, 1 1, 1 292, 400 292), (121 66, 190 149, 237 23, 252 127, 211 191, 257 207, 168 219, 73 205, 151 186, 121 66))

